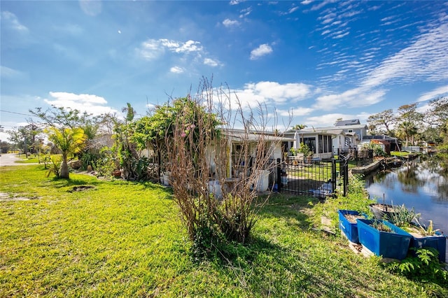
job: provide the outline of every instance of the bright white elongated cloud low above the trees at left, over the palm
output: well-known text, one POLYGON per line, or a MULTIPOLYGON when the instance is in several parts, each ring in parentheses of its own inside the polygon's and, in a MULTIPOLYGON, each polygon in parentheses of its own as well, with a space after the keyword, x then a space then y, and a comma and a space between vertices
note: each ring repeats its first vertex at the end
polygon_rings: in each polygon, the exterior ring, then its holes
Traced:
POLYGON ((118 113, 115 109, 104 106, 106 99, 94 94, 74 94, 69 92, 50 92, 50 99, 44 99, 45 103, 56 107, 76 109, 93 115, 102 113, 118 113))

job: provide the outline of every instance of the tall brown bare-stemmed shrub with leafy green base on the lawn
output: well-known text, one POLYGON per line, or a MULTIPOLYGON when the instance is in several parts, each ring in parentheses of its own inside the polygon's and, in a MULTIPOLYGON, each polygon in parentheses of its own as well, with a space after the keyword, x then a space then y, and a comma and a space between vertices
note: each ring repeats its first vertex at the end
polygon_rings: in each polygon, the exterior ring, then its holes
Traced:
POLYGON ((222 252, 232 241, 250 239, 257 206, 265 201, 257 199, 254 185, 274 166, 269 158, 281 142, 281 138, 271 139, 268 146, 266 134, 251 134, 266 130, 265 106, 260 104, 254 116, 252 110, 244 113, 236 99, 231 110, 231 95, 223 88, 214 90, 204 79, 195 97, 174 100, 156 112, 166 115, 158 118, 165 132, 153 127, 155 135, 165 136, 173 199, 193 242, 193 253, 199 256, 222 252), (235 123, 243 129, 233 129, 235 123), (230 156, 232 140, 237 140, 239 149, 230 156), (239 165, 238 182, 225 187, 231 164, 239 165))

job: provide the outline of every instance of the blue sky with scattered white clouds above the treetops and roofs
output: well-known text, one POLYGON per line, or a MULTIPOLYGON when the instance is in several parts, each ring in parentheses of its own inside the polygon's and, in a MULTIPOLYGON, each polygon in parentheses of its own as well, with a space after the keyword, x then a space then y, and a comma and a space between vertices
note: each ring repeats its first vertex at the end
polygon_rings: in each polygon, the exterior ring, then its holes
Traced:
MULTIPOLYGON (((1 1, 1 118, 141 115, 200 78, 292 125, 448 94, 448 1, 1 1)), ((279 125, 282 125, 282 121, 279 125)), ((6 140, 4 134, 0 139, 6 140)))

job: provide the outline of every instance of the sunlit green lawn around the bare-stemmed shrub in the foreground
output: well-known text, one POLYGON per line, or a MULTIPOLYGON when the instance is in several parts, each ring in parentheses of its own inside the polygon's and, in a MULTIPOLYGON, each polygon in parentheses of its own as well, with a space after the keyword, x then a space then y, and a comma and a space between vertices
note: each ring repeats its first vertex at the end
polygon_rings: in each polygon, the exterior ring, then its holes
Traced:
POLYGON ((248 246, 194 262, 169 189, 43 166, 0 169, 0 297, 427 297, 340 236, 309 229, 307 197, 277 195, 248 246), (73 187, 89 185, 80 192, 73 187))

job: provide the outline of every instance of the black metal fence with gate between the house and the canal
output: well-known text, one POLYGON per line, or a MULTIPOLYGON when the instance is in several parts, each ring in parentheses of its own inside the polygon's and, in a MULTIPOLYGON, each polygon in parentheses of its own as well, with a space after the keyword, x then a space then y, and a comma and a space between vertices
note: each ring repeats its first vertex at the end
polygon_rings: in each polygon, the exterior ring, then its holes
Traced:
POLYGON ((319 198, 346 195, 349 184, 348 159, 303 160, 288 162, 277 160, 277 189, 297 195, 319 198))

